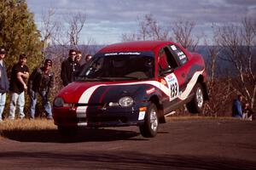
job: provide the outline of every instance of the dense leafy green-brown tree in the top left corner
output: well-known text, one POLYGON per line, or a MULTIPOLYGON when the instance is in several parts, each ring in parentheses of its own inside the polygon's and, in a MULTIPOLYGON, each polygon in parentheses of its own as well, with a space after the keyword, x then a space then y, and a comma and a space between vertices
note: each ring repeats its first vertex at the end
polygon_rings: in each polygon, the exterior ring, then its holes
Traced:
POLYGON ((0 11, 0 46, 7 50, 5 62, 8 70, 21 53, 28 56, 27 65, 32 70, 43 60, 43 43, 26 0, 3 0, 0 11))

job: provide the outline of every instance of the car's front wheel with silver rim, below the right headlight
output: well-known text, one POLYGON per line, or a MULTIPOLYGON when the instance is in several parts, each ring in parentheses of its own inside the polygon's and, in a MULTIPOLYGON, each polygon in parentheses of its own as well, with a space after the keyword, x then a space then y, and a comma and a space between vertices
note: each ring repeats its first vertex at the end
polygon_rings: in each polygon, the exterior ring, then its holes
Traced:
POLYGON ((146 112, 144 122, 139 126, 140 132, 145 138, 153 138, 158 131, 159 119, 156 105, 151 103, 146 112))

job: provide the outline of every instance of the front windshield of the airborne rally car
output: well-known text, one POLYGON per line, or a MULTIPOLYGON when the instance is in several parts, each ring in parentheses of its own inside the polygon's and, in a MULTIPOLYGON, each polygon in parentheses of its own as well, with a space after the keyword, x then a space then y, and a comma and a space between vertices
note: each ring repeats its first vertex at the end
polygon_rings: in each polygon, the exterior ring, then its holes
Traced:
POLYGON ((79 72, 77 81, 124 81, 154 77, 154 57, 143 55, 99 56, 79 72))

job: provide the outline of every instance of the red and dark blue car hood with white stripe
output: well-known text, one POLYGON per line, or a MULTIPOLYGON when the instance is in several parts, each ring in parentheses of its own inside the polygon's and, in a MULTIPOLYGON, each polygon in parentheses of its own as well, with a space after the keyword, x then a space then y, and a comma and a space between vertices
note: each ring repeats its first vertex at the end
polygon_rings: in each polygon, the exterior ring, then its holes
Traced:
POLYGON ((72 82, 57 95, 66 103, 99 104, 116 102, 122 96, 134 97, 146 93, 153 85, 148 82, 72 82), (141 94, 141 92, 140 92, 141 94))

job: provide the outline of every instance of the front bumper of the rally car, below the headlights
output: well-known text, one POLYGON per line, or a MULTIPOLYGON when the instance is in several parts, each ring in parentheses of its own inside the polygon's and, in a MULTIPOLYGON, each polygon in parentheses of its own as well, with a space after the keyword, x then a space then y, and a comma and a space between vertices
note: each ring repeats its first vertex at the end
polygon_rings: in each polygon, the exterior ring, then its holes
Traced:
MULTIPOLYGON (((139 108, 86 106, 84 111, 77 107, 54 107, 55 125, 64 127, 121 127, 139 125, 143 122, 139 108), (86 113, 85 113, 86 112, 86 113)), ((145 114, 145 111, 144 111, 145 114)))

